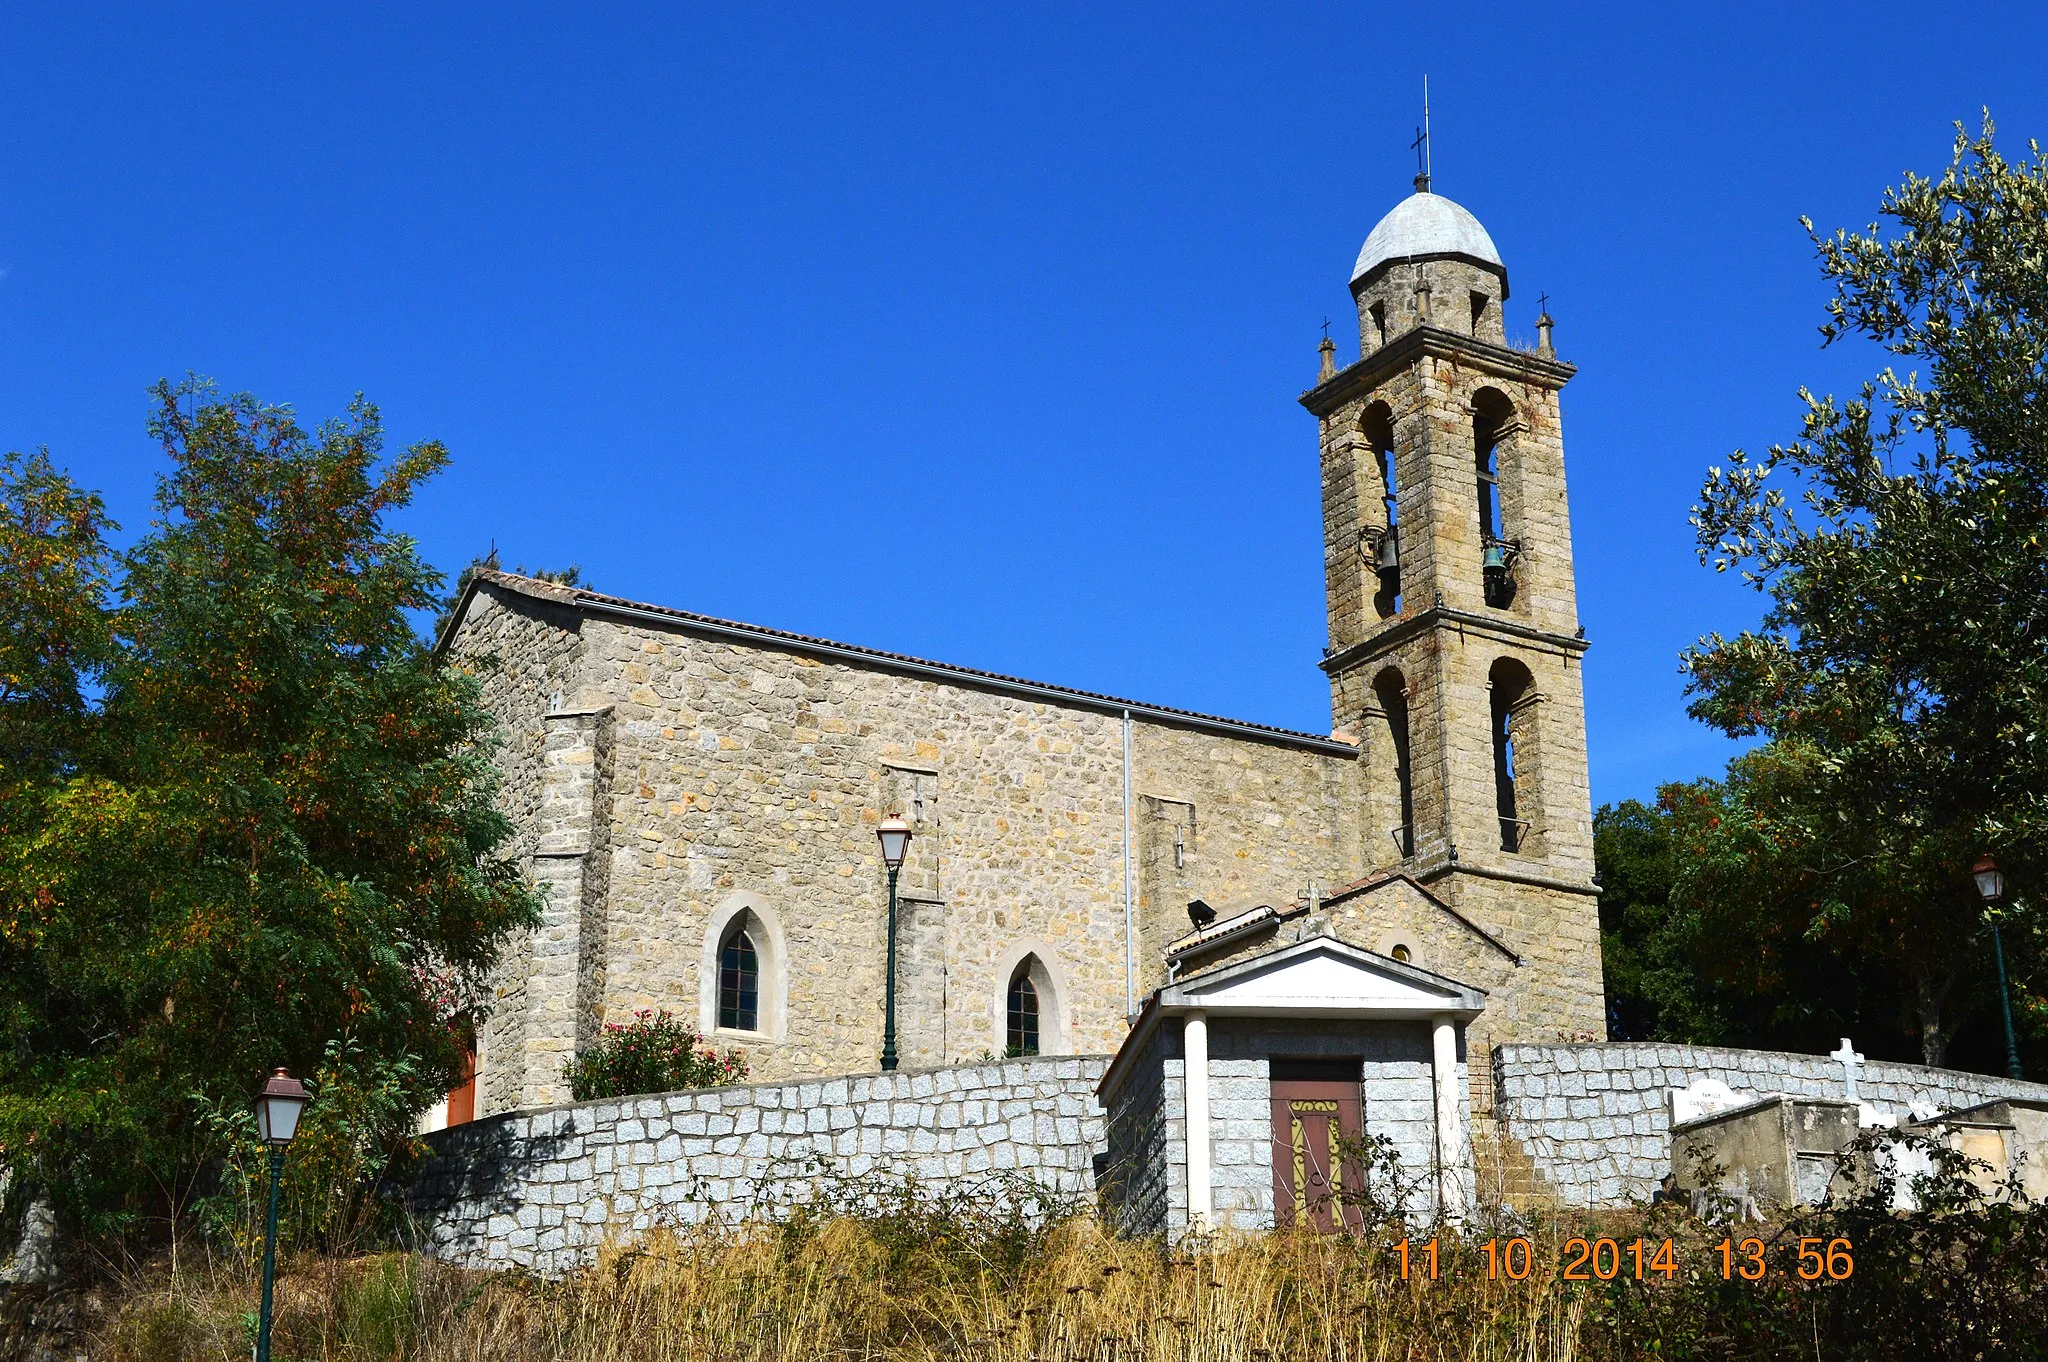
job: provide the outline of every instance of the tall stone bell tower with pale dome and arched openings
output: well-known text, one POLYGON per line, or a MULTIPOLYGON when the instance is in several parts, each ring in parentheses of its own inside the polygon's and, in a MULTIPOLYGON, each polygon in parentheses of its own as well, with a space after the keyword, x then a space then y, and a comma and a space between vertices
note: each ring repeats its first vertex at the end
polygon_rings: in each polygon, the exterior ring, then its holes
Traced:
POLYGON ((1325 340, 1300 401, 1321 422, 1323 670, 1368 764, 1366 860, 1589 975, 1599 1028, 1559 416, 1575 371, 1548 315, 1534 346, 1507 340, 1493 238, 1427 176, 1366 238, 1352 297, 1358 360, 1325 340))

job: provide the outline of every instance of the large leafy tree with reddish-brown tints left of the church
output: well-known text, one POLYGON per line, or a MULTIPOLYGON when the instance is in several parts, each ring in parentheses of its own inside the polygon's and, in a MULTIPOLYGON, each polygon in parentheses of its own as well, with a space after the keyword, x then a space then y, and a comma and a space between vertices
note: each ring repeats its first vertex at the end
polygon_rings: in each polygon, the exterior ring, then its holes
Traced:
POLYGON ((76 602, 41 692, 78 731, 35 817, 0 829, 0 1159, 92 1231, 182 1215, 219 1153, 197 1116, 272 1065, 410 1057, 424 1108, 535 918, 494 854, 477 678, 408 625, 440 576, 387 524, 446 451, 387 463, 360 399, 309 434, 197 379, 154 397, 172 471, 119 555, 96 709, 63 670, 96 662, 96 502, 18 465, 29 547, 0 563, 0 596, 41 580, 76 602))

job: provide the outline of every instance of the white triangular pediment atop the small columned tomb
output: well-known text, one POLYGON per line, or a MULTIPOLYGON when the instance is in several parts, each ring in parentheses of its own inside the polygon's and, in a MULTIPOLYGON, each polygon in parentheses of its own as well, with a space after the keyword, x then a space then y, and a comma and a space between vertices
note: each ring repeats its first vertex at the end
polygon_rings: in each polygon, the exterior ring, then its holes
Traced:
POLYGON ((1432 1016, 1477 1012, 1479 989, 1317 936, 1227 969, 1182 979, 1161 993, 1171 1008, 1214 1012, 1356 1012, 1432 1016))

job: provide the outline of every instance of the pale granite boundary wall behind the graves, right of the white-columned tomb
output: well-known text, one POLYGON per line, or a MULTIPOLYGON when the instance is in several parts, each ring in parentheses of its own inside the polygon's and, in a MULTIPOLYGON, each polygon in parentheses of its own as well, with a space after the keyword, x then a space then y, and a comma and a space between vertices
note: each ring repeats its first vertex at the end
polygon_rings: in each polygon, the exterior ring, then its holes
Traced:
MULTIPOLYGON (((1495 1120, 1565 1204, 1624 1204, 1649 1198, 1671 1172, 1665 1094, 1704 1077, 1759 1098, 1845 1096, 1841 1063, 1827 1055, 1655 1042, 1501 1045, 1493 1051, 1495 1120)), ((2048 1100, 2048 1083, 1866 1063, 1858 1069, 1858 1098, 1903 1116, 1913 1100, 1939 1110, 1993 1098, 2048 1100)))

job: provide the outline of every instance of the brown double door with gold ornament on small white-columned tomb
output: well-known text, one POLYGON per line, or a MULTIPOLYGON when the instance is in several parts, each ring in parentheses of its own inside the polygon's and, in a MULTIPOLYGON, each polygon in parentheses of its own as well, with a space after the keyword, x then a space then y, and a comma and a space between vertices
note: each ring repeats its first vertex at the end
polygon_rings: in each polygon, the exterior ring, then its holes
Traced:
POLYGON ((1272 1061, 1274 1225, 1362 1227, 1364 1169, 1343 1149, 1364 1135, 1362 1114, 1356 1059, 1272 1061))

